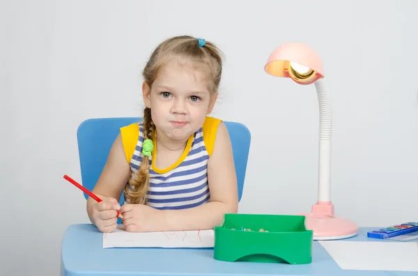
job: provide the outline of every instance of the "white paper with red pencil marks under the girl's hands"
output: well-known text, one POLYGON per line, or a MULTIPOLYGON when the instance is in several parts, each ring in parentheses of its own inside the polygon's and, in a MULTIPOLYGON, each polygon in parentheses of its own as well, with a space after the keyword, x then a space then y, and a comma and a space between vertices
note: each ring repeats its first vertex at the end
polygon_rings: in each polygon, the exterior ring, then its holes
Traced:
POLYGON ((103 248, 111 247, 169 247, 211 248, 215 244, 213 229, 179 232, 126 232, 118 227, 112 233, 103 234, 103 248))

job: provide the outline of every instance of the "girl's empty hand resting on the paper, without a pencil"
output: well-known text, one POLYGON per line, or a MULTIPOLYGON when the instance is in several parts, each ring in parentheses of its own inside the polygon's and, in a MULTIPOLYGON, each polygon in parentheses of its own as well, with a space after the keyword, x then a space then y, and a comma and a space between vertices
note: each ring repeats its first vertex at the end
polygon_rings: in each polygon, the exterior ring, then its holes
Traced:
POLYGON ((162 211, 144 204, 124 204, 120 213, 127 232, 160 231, 162 211))

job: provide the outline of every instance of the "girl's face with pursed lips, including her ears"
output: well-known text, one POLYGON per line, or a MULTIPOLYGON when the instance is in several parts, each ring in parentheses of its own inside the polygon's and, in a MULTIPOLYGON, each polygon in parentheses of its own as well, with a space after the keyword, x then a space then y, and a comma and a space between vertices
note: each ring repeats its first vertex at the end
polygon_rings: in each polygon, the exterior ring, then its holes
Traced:
POLYGON ((187 140, 201 128, 217 98, 208 90, 207 76, 202 68, 174 59, 160 67, 150 90, 144 84, 144 102, 159 136, 187 140))

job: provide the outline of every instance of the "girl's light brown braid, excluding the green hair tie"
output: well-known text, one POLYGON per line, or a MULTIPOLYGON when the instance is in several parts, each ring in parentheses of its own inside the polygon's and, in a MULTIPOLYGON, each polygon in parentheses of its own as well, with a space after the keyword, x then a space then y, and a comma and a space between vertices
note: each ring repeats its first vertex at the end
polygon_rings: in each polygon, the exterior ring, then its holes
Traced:
MULTIPOLYGON (((148 107, 144 109, 143 123, 144 140, 153 140, 155 125, 151 118, 151 110, 148 107)), ((148 156, 142 157, 141 167, 139 168, 138 173, 132 172, 128 183, 130 186, 125 186, 124 190, 125 199, 131 204, 146 204, 146 193, 150 186, 150 162, 148 156)))

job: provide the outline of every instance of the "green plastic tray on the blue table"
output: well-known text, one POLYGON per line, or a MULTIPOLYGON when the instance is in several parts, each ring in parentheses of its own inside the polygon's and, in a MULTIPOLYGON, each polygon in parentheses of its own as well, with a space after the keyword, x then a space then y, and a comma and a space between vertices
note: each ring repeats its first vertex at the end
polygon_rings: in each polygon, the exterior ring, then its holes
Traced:
POLYGON ((224 216, 224 224, 215 227, 214 258, 219 261, 311 263, 313 232, 305 228, 304 220, 304 216, 228 213, 224 216), (268 232, 259 232, 259 229, 268 232))

